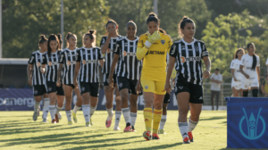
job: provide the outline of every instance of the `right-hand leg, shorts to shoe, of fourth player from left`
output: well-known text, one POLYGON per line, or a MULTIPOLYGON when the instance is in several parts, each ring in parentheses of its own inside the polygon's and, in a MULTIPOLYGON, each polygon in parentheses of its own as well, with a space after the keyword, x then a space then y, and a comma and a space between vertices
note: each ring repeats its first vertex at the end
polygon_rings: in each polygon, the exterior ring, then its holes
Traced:
POLYGON ((94 114, 94 112, 96 111, 96 104, 98 102, 98 85, 99 83, 90 83, 89 87, 90 87, 90 125, 93 125, 92 122, 92 116, 94 114))

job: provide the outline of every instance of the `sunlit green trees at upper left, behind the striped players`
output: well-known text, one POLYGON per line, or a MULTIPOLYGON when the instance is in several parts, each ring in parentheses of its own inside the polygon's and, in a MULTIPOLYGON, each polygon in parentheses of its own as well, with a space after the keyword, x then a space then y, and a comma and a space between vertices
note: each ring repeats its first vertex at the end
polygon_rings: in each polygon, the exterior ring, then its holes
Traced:
MULTIPOLYGON (((4 0, 3 3, 3 57, 28 58, 38 49, 41 34, 61 32, 61 1, 4 0)), ((64 0, 64 35, 71 31, 82 35, 88 29, 104 32, 108 7, 103 0, 64 0)), ((99 41, 99 40, 97 40, 99 41)))

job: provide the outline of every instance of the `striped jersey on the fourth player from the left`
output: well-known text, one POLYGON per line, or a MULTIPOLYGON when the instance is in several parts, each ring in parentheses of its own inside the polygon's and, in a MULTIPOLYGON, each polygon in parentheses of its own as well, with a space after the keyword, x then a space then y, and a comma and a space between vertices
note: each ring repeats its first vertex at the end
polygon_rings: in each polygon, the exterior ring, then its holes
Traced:
POLYGON ((96 83, 98 77, 98 61, 102 60, 103 54, 99 47, 85 48, 77 50, 76 62, 80 62, 80 82, 96 83))

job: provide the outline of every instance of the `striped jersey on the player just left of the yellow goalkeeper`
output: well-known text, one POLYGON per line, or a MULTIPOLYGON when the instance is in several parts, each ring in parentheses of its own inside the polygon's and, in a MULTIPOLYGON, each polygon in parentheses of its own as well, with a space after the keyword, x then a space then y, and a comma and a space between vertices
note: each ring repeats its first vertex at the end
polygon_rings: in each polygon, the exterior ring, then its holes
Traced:
POLYGON ((135 40, 122 37, 117 41, 116 48, 113 51, 114 54, 120 55, 117 77, 138 80, 142 65, 136 56, 137 45, 138 37, 135 40))

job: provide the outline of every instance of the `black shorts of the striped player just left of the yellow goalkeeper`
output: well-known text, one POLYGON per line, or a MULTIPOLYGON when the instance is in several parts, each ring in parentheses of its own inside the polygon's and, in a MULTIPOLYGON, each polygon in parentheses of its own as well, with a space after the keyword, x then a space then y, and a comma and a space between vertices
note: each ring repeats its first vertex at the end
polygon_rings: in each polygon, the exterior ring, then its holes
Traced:
MULTIPOLYGON (((128 88, 129 92, 133 95, 137 95, 136 86, 138 80, 127 79, 126 77, 117 77, 117 86, 119 91, 123 88, 128 88)), ((141 91, 139 92, 141 94, 141 91)))

